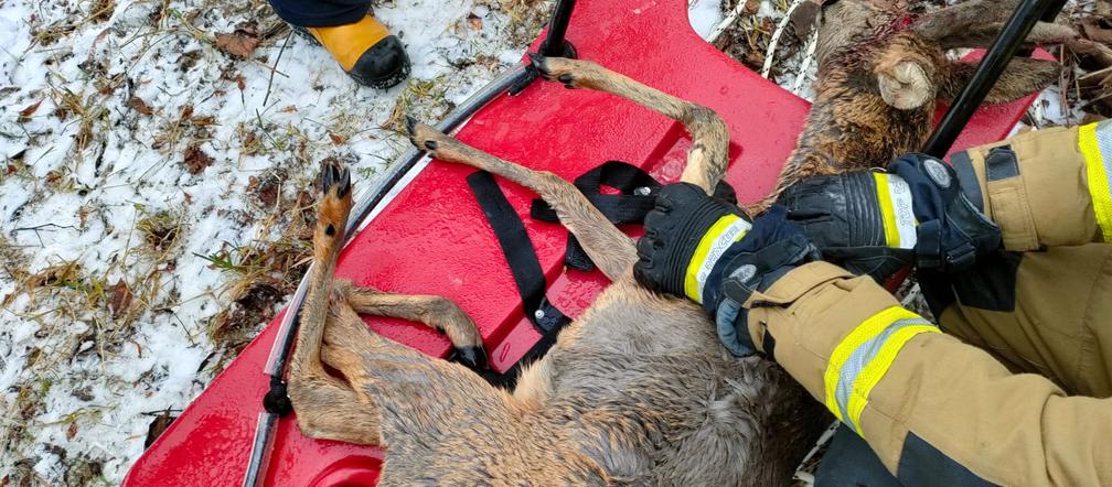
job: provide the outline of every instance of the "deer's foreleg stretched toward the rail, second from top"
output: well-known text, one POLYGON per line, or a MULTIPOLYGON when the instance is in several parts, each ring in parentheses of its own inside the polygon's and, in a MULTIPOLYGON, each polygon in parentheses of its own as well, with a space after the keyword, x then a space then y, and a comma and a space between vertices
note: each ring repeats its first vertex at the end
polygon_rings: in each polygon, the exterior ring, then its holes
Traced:
POLYGON ((539 195, 556 210, 559 221, 575 235, 590 260, 610 280, 617 280, 637 260, 637 250, 629 236, 610 223, 576 187, 558 176, 499 159, 414 119, 408 119, 406 126, 409 140, 436 159, 493 172, 539 195))

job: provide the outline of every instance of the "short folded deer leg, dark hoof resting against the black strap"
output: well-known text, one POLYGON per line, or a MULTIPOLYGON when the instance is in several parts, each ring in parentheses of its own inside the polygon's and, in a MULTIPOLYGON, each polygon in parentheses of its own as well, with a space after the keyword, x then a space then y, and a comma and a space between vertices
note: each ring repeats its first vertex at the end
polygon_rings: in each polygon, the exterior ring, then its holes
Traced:
POLYGON ((488 368, 483 335, 453 300, 440 296, 384 292, 355 286, 346 279, 337 279, 334 286, 355 312, 424 324, 446 335, 465 365, 473 369, 488 368))

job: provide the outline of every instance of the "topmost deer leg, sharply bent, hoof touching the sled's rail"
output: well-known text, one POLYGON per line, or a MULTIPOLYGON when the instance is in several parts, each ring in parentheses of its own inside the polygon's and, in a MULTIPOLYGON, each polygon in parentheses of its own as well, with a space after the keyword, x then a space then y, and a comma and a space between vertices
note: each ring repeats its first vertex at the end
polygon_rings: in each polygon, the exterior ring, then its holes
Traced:
POLYGON ((529 57, 546 80, 562 82, 567 88, 616 95, 683 123, 692 135, 692 148, 679 180, 698 186, 707 193, 714 192, 729 163, 729 130, 714 110, 647 87, 592 61, 535 53, 529 57))

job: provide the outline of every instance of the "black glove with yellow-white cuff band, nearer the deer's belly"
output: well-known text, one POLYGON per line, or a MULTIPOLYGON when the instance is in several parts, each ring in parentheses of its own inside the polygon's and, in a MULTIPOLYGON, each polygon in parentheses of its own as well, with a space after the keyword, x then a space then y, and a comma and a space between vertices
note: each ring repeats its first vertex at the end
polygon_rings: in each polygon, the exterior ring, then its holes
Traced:
POLYGON ((754 352, 744 305, 818 252, 802 229, 773 207, 749 221, 734 205, 697 186, 668 185, 645 217, 634 277, 648 289, 684 296, 715 317, 732 354, 754 352))

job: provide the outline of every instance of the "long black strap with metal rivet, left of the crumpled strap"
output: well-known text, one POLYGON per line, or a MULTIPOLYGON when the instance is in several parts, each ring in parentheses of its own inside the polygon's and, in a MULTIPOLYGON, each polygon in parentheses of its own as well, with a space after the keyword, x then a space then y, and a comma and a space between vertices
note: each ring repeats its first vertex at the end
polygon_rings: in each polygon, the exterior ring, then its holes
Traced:
POLYGON ((467 185, 475 192, 475 198, 490 222, 498 245, 506 256, 506 264, 514 275, 517 292, 522 296, 522 309, 525 316, 540 332, 540 340, 530 348, 517 364, 503 374, 488 371, 483 376, 496 386, 513 387, 517 381, 518 371, 523 365, 529 364, 548 351, 556 344, 559 330, 572 322, 559 309, 548 302, 545 296, 547 282, 540 260, 533 250, 533 241, 525 231, 525 225, 518 218, 514 207, 506 200, 506 195, 498 188, 494 177, 486 171, 477 171, 467 177, 467 185))

